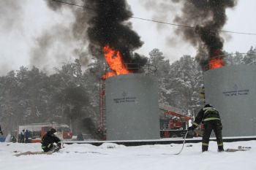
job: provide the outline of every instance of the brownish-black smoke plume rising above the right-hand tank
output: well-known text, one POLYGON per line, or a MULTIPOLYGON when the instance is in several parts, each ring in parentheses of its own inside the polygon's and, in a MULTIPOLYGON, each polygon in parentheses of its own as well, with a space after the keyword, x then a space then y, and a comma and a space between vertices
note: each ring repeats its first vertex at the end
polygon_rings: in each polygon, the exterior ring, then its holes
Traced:
POLYGON ((176 23, 195 26, 195 29, 180 27, 177 33, 197 47, 196 59, 202 68, 211 58, 222 54, 224 39, 219 30, 227 21, 225 10, 235 6, 236 0, 189 0, 184 2, 182 15, 176 17, 176 23))

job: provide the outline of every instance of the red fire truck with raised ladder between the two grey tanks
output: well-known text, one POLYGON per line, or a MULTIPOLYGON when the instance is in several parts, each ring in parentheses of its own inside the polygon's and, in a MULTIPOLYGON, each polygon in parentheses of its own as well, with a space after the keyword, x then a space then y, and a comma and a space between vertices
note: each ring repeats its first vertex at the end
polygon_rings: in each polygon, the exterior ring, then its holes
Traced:
MULTIPOLYGON (((192 120, 192 117, 186 115, 181 109, 170 107, 169 105, 159 104, 159 109, 163 112, 160 116, 161 138, 184 136, 189 126, 189 120, 192 120)), ((193 137, 193 134, 188 134, 187 137, 193 137)))

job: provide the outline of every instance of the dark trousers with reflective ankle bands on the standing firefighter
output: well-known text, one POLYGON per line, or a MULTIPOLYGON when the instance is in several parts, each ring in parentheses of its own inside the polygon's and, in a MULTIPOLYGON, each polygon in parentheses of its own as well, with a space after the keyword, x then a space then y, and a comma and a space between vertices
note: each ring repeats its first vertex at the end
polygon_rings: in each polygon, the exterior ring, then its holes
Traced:
POLYGON ((208 120, 203 123, 203 141, 202 141, 202 151, 208 150, 209 139, 211 136, 211 131, 214 130, 214 134, 217 138, 218 151, 223 151, 223 141, 222 141, 222 123, 220 120, 208 120))

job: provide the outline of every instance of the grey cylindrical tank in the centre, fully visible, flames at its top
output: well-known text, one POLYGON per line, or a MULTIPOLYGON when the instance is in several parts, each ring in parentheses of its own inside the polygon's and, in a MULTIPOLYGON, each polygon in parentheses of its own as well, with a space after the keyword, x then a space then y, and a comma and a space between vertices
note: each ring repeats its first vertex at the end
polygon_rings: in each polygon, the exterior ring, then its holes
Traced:
POLYGON ((159 139, 157 78, 122 74, 105 81, 107 140, 159 139))

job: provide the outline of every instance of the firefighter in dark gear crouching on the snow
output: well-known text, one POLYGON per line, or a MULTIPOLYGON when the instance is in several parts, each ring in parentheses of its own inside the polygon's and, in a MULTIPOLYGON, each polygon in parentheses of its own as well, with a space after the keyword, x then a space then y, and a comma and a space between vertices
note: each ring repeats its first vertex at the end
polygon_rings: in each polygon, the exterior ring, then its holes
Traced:
POLYGON ((55 128, 51 128, 50 131, 42 137, 42 150, 44 150, 44 152, 56 152, 61 149, 61 139, 55 134, 55 128))

